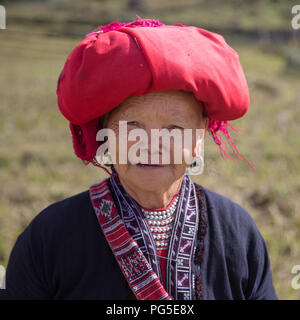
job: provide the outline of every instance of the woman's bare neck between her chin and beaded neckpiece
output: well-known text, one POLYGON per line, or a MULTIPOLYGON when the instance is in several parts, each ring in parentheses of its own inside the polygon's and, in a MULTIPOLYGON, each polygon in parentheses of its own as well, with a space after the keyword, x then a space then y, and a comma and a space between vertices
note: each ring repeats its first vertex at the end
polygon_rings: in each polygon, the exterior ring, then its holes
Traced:
POLYGON ((165 208, 172 201, 174 196, 179 192, 183 177, 174 181, 169 187, 161 190, 141 190, 140 188, 135 188, 126 181, 123 181, 119 177, 122 186, 126 192, 143 208, 145 209, 160 209, 165 208))

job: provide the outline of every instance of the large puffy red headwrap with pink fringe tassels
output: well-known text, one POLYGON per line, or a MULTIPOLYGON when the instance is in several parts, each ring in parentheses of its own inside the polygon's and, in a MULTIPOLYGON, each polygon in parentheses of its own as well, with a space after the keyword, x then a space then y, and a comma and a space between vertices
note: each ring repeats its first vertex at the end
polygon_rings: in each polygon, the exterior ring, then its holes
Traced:
POLYGON ((238 54, 221 35, 157 20, 115 21, 100 26, 73 49, 57 87, 58 106, 70 121, 76 155, 93 161, 100 142, 99 117, 127 97, 152 91, 192 92, 209 117, 209 132, 227 155, 220 132, 235 154, 228 120, 249 107, 238 54))

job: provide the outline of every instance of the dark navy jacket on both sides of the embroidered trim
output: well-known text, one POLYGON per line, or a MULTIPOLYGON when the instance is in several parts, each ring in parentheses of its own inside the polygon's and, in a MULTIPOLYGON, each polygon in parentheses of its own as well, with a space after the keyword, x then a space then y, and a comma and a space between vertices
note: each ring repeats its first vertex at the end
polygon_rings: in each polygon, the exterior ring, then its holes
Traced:
MULTIPOLYGON (((203 187, 202 187, 203 188, 203 187)), ((265 242, 238 204, 203 188, 204 299, 277 299, 265 242)), ((18 237, 0 299, 135 299, 88 191, 51 204, 18 237)))

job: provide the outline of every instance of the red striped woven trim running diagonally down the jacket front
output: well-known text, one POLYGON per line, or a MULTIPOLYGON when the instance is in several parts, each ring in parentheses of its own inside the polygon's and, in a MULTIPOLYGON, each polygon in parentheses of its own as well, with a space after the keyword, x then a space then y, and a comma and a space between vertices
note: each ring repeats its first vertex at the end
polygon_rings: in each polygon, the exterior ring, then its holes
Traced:
POLYGON ((171 300, 143 252, 127 231, 107 179, 90 187, 90 199, 104 236, 138 300, 171 300))

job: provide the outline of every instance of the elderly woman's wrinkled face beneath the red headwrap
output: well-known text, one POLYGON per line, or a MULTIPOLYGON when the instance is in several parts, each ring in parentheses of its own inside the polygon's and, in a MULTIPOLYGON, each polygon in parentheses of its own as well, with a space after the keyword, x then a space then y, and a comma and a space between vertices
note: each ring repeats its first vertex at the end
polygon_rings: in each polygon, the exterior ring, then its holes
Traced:
POLYGON ((206 126, 206 119, 202 117, 202 109, 192 93, 167 90, 127 98, 109 114, 106 123, 106 127, 112 129, 117 138, 116 159, 113 160, 121 181, 126 181, 126 184, 145 191, 168 188, 184 175, 188 166, 184 161, 184 156, 186 159, 196 156, 197 141, 194 132, 196 129, 204 129, 206 126), (131 163, 129 161, 130 149, 132 150, 133 145, 137 145, 139 139, 128 141, 126 137, 127 148, 125 150, 129 155, 129 159, 127 158, 128 160, 125 164, 119 163, 118 159, 121 156, 119 145, 124 146, 124 136, 121 137, 119 121, 126 121, 128 135, 134 129, 143 129, 147 133, 148 143, 144 143, 144 148, 136 150, 137 155, 141 155, 141 150, 143 149, 143 155, 145 156, 145 152, 148 155, 148 162, 131 163), (183 130, 192 129, 192 145, 189 149, 182 149, 182 161, 180 161, 182 163, 178 164, 178 161, 174 161, 174 153, 178 152, 178 150, 176 149, 176 143, 174 143, 176 140, 172 137, 169 140, 169 146, 160 139, 159 147, 152 150, 154 149, 153 144, 151 144, 151 131, 154 132, 153 129, 167 129, 168 131, 164 130, 165 132, 177 129, 177 132, 182 133, 183 145, 183 130), (165 160, 163 161, 163 152, 170 153, 170 162, 167 164, 165 164, 165 160), (151 165, 151 155, 153 156, 154 154, 158 157, 159 163, 151 165), (149 165, 145 165, 145 163, 149 165))

